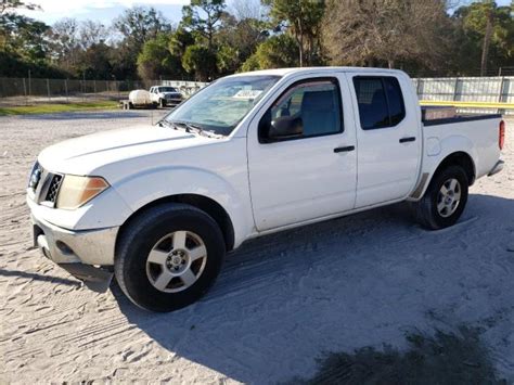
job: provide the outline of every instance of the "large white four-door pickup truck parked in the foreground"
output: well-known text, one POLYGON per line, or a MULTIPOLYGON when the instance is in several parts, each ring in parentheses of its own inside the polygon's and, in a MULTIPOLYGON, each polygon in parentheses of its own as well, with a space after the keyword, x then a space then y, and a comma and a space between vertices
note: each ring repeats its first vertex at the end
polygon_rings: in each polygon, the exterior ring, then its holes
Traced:
POLYGON ((467 188, 502 169, 504 129, 499 115, 423 121, 399 70, 237 74, 155 127, 42 151, 27 189, 35 242, 76 277, 114 271, 134 304, 170 311, 248 239, 402 201, 423 227, 452 226, 467 188))

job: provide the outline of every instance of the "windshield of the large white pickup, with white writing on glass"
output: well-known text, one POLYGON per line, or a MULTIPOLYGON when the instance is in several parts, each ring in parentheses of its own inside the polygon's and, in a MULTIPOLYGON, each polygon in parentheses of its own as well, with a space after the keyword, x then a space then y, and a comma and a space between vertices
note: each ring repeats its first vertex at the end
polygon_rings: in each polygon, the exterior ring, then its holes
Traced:
POLYGON ((228 136, 279 76, 234 76, 216 80, 195 93, 165 119, 228 136))

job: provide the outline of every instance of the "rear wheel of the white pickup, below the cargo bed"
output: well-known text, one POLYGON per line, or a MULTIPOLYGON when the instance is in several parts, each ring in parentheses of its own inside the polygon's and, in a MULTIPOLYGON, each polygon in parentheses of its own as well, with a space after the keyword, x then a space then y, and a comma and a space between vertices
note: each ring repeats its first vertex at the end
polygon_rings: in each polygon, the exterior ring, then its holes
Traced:
POLYGON ((416 221, 428 230, 453 226, 466 206, 468 184, 466 172, 461 166, 449 166, 438 171, 432 179, 425 195, 420 202, 413 204, 416 221), (453 184, 452 181, 458 183, 453 184), (451 190, 452 184, 453 190, 451 190), (451 191, 453 191, 452 196, 451 191), (459 202, 455 205, 457 197, 459 202))

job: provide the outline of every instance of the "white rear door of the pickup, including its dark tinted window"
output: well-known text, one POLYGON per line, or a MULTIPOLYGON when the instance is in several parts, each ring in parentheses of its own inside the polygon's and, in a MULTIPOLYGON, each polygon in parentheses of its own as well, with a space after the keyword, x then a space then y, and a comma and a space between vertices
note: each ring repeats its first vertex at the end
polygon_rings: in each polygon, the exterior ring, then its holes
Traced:
POLYGON ((357 105, 356 208, 401 200, 413 190, 421 162, 421 124, 407 77, 347 74, 357 105))

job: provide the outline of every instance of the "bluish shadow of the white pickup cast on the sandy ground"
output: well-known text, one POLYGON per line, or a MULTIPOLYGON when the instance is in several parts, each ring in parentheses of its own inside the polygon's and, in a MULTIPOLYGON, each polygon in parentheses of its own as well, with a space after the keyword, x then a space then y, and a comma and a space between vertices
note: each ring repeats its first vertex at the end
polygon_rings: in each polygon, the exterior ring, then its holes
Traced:
MULTIPOLYGON (((174 313, 113 292, 128 321, 177 357, 277 383, 310 376, 330 351, 402 348, 410 331, 480 324, 502 309, 509 336, 513 242, 514 201, 470 195, 460 222, 441 231, 395 205, 247 242, 206 297, 174 313)), ((513 347, 502 348, 514 368, 513 347)))

